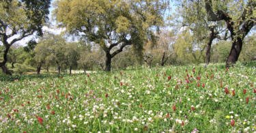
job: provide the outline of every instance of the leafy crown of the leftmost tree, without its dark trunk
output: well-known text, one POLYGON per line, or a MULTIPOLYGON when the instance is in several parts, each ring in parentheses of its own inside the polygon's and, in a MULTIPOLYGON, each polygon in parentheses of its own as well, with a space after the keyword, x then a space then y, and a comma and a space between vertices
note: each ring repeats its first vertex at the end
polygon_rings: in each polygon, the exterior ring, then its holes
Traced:
POLYGON ((42 34, 42 25, 47 19, 50 0, 3 0, 0 2, 1 32, 10 29, 13 35, 16 32, 27 34, 38 31, 42 34), (6 27, 8 25, 8 27, 6 27))

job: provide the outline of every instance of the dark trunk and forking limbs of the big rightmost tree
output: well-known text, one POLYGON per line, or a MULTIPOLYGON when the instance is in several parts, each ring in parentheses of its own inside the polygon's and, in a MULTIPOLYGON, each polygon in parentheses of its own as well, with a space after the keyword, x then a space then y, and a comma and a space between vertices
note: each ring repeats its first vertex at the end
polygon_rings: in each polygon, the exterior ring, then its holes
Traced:
POLYGON ((255 26, 255 16, 253 16, 253 11, 256 7, 256 1, 248 1, 246 8, 240 16, 240 20, 233 22, 233 19, 227 12, 223 10, 217 10, 216 14, 212 10, 212 0, 205 0, 205 10, 208 13, 208 20, 210 21, 219 21, 225 20, 227 29, 229 29, 231 34, 232 47, 227 57, 226 68, 229 68, 231 65, 238 61, 238 57, 242 50, 242 41, 247 33, 255 26), (249 18, 246 18, 248 16, 249 18), (235 30, 234 25, 238 25, 239 29, 235 30))

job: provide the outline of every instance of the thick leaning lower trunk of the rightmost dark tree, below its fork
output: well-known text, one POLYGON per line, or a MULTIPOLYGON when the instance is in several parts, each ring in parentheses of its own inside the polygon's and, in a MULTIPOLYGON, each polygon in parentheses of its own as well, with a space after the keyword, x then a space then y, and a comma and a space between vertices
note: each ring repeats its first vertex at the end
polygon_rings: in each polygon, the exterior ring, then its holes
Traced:
POLYGON ((233 41, 232 47, 229 53, 229 57, 227 57, 226 68, 232 66, 236 61, 238 61, 238 57, 242 50, 242 38, 238 37, 233 41))

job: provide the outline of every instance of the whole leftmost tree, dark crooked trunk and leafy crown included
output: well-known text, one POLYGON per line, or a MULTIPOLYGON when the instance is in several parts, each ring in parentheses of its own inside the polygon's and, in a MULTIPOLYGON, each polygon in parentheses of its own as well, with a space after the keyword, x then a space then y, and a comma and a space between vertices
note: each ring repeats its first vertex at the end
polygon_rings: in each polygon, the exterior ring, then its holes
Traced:
POLYGON ((5 74, 11 74, 5 66, 10 46, 35 31, 42 35, 42 26, 47 19, 50 3, 51 0, 0 1, 0 41, 5 46, 0 67, 5 74))

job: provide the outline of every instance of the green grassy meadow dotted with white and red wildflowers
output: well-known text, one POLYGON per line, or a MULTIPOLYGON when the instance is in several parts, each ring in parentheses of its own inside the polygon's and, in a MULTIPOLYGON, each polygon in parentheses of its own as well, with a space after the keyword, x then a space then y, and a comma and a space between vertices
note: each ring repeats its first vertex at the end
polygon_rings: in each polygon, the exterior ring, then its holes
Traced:
POLYGON ((1 78, 0 132, 256 132, 256 68, 1 78))

